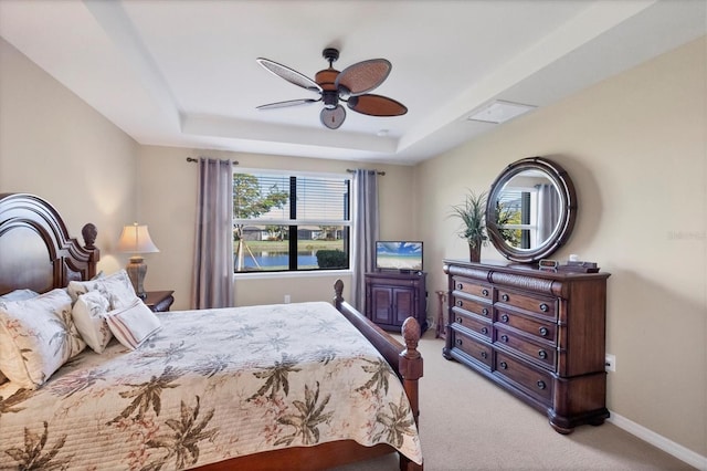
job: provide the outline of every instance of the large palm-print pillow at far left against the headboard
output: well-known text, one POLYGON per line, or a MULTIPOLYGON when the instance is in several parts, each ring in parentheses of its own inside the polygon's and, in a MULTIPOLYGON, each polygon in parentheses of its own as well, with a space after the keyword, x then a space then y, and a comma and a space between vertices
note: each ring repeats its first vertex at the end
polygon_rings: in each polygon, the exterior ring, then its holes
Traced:
POLYGON ((41 386, 85 347, 64 290, 0 305, 0 369, 23 388, 41 386))

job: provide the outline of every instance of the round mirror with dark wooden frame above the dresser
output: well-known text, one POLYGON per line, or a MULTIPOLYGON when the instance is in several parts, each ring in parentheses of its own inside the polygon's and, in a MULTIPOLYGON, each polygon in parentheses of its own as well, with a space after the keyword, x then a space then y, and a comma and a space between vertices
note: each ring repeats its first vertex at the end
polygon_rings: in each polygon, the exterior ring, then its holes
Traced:
POLYGON ((572 232, 577 196, 558 164, 529 157, 510 164, 490 187, 488 237, 505 258, 532 263, 550 257, 572 232))

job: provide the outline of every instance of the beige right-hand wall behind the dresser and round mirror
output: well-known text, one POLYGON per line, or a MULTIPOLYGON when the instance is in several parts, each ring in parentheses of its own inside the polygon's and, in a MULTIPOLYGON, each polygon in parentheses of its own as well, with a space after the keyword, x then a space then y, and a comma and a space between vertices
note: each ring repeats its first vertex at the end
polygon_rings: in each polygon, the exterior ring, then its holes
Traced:
MULTIPOLYGON (((572 177, 579 219, 568 244, 612 273, 609 408, 707 454, 707 41, 537 109, 415 169, 431 283, 466 258, 445 218, 466 188, 488 189, 514 160, 546 156, 572 177), (437 268, 433 269, 433 263, 437 268)), ((493 247, 483 259, 503 259, 493 247)))

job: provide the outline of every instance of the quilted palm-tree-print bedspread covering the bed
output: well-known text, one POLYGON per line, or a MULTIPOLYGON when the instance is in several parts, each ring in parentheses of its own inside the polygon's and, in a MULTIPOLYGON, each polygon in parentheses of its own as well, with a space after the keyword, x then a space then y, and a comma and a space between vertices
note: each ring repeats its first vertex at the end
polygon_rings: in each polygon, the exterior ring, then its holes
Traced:
POLYGON ((161 313, 137 350, 0 386, 0 469, 188 469, 352 439, 420 463, 402 385, 328 303, 161 313))

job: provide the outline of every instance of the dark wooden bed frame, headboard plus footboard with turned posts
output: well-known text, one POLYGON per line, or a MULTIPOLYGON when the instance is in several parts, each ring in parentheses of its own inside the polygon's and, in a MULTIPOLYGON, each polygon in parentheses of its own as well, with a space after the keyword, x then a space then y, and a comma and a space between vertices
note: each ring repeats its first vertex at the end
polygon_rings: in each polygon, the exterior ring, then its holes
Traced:
MULTIPOLYGON (((96 228, 82 230, 85 244, 71 238, 59 212, 43 199, 28 193, 0 193, 0 295, 30 289, 39 293, 65 287, 71 281, 96 275, 99 251, 95 248, 96 228)), ((356 311, 341 297, 344 284, 335 284, 334 305, 388 360, 403 384, 415 422, 419 416, 418 380, 422 377, 422 357, 416 350, 420 325, 409 318, 403 325, 403 346, 356 311)), ((0 397, 0 400, 2 398, 0 397)), ((354 440, 331 441, 314 447, 294 447, 229 459, 201 467, 225 469, 327 469, 395 452, 388 444, 365 447, 354 440)), ((422 465, 400 456, 401 470, 421 470, 422 465)))

